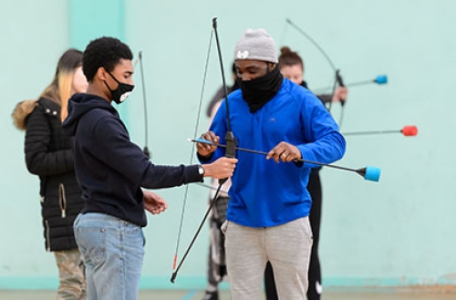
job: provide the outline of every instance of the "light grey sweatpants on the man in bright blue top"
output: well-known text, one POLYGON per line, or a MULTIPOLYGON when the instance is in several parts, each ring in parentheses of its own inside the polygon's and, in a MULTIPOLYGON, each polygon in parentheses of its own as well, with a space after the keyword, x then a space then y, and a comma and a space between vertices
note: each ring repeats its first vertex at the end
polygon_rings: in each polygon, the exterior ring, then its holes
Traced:
POLYGON ((261 228, 226 221, 222 230, 233 300, 260 298, 267 261, 273 265, 279 299, 306 299, 312 248, 308 217, 261 228))

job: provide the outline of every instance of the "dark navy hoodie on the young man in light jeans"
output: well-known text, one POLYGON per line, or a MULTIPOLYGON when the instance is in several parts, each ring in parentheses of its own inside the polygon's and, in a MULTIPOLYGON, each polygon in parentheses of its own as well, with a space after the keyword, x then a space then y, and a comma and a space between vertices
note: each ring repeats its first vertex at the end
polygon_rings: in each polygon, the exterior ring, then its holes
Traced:
POLYGON ((85 207, 146 226, 141 187, 159 189, 202 181, 198 165, 158 166, 130 141, 116 109, 95 95, 69 99, 64 132, 74 138, 75 171, 85 207))

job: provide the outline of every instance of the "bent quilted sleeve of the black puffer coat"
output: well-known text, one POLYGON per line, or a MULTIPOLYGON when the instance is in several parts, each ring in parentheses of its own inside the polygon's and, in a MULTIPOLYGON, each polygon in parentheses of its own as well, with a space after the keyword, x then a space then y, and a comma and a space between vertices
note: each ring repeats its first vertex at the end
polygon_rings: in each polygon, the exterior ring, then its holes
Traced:
POLYGON ((71 149, 50 150, 53 130, 56 128, 51 126, 41 107, 36 107, 26 120, 26 166, 32 174, 47 176, 74 170, 71 149))

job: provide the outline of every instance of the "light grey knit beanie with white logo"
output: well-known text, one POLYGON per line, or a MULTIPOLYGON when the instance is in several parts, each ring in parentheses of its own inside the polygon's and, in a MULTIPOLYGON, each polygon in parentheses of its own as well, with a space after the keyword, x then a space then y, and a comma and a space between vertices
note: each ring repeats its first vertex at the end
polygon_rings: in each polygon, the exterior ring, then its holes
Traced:
POLYGON ((274 39, 263 29, 247 29, 234 47, 234 60, 254 59, 277 63, 274 39))

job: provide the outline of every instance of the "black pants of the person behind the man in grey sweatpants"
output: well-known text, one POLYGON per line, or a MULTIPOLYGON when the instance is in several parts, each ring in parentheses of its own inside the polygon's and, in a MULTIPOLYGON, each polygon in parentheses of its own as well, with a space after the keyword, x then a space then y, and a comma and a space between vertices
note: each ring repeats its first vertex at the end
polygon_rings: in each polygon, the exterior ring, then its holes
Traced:
MULTIPOLYGON (((310 209, 310 226, 314 235, 314 243, 312 244, 312 253, 310 254, 310 264, 308 272, 309 288, 307 290, 308 300, 320 300, 321 290, 321 269, 320 260, 318 258, 318 241, 320 240, 320 221, 321 221, 321 182, 318 169, 312 169, 309 175, 307 190, 312 197, 312 207, 310 209)), ((269 262, 264 271, 264 286, 267 300, 277 300, 278 295, 275 290, 273 267, 269 262)))

